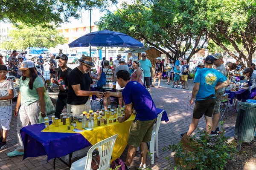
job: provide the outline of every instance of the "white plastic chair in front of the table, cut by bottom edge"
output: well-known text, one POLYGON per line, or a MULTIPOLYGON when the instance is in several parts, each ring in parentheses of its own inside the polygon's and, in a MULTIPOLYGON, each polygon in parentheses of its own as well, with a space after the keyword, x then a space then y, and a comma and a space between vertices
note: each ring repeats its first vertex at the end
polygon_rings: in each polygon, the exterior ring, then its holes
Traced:
POLYGON ((87 156, 73 162, 70 170, 90 170, 93 150, 98 148, 99 151, 99 170, 109 170, 111 155, 113 152, 113 147, 117 138, 117 134, 109 138, 104 139, 103 141, 98 142, 93 145, 87 153, 87 156))

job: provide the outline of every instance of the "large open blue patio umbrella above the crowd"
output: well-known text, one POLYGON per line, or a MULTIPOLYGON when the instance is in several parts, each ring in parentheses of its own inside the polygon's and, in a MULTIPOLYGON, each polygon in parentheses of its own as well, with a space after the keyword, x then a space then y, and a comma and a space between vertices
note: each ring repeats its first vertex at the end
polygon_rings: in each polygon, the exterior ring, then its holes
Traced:
POLYGON ((143 43, 121 32, 114 32, 110 30, 102 30, 91 32, 79 37, 72 43, 68 44, 70 48, 73 47, 87 47, 87 46, 105 46, 105 47, 142 47, 143 43))

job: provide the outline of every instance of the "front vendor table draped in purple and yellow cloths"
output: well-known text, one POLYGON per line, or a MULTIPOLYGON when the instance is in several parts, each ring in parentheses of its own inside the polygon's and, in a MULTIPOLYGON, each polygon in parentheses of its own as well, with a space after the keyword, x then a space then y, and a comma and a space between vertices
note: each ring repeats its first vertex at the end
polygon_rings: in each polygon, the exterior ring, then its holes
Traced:
MULTIPOLYGON (((157 114, 160 114, 161 112, 163 112, 162 121, 169 121, 166 111, 157 109, 157 114)), ((129 128, 134 118, 135 115, 132 115, 123 123, 119 123, 116 120, 116 122, 111 124, 109 123, 108 119, 108 124, 101 124, 100 127, 97 126, 97 122, 95 121, 92 131, 84 130, 83 132, 79 133, 74 133, 72 131, 74 129, 73 126, 71 126, 71 130, 67 130, 69 121, 67 121, 65 128, 62 127, 62 129, 64 129, 62 132, 58 132, 61 130, 61 128, 57 128, 58 130, 56 130, 55 125, 52 125, 51 121, 49 132, 44 132, 44 123, 23 127, 20 130, 24 144, 23 159, 27 157, 47 155, 47 161, 49 161, 52 158, 60 158, 70 154, 69 164, 67 164, 67 166, 70 167, 73 152, 96 144, 97 142, 102 141, 103 139, 112 135, 118 134, 112 154, 112 158, 115 159, 120 157, 122 152, 125 150, 129 135, 129 128), (55 129, 55 132, 53 132, 51 129, 55 129)), ((61 126, 64 125, 62 125, 62 122, 59 122, 59 127, 61 126)), ((81 129, 81 123, 77 123, 77 127, 75 128, 81 129)))

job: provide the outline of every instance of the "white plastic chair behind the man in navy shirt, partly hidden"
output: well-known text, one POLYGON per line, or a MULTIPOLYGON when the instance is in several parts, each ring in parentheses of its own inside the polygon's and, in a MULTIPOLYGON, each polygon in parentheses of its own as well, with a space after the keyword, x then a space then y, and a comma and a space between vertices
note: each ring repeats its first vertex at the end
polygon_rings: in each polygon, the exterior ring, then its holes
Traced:
POLYGON ((151 135, 151 141, 150 141, 151 164, 154 164, 154 143, 155 142, 156 142, 157 157, 159 156, 159 154, 158 154, 158 130, 159 130, 159 127, 161 124, 163 111, 157 115, 157 122, 153 127, 153 131, 152 131, 152 135, 151 135))

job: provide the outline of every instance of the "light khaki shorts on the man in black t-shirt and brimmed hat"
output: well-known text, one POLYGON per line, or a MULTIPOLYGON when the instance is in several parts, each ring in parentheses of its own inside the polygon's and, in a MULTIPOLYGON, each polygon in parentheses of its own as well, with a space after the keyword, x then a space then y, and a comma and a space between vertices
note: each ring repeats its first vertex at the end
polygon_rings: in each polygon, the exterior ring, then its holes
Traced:
POLYGON ((91 109, 92 107, 90 105, 89 99, 85 104, 80 104, 80 105, 67 104, 67 114, 69 114, 72 111, 73 116, 80 116, 80 115, 82 116, 84 111, 88 112, 91 109))

